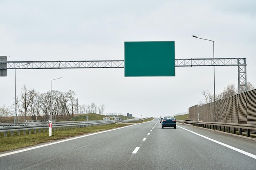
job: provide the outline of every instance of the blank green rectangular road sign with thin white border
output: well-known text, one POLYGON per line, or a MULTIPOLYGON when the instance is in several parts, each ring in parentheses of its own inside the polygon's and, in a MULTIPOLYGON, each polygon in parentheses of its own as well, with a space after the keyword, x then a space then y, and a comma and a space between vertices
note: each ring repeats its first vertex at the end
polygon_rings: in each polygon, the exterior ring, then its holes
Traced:
POLYGON ((124 42, 124 76, 175 76, 174 41, 124 42))

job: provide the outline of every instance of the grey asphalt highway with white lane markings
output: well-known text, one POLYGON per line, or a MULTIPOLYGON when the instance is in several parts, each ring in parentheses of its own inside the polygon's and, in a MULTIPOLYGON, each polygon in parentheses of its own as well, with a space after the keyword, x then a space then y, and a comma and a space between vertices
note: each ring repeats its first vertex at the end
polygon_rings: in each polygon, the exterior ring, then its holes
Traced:
POLYGON ((256 140, 159 119, 0 153, 1 170, 255 170, 256 140))

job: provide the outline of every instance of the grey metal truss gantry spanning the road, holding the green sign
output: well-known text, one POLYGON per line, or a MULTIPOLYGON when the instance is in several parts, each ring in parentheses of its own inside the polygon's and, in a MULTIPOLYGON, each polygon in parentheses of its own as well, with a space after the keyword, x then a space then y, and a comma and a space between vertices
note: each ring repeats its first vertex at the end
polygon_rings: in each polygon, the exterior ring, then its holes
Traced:
MULTIPOLYGON (((175 67, 238 66, 238 92, 246 92, 246 58, 175 59, 175 67)), ((124 68, 124 60, 0 61, 5 69, 124 68)))

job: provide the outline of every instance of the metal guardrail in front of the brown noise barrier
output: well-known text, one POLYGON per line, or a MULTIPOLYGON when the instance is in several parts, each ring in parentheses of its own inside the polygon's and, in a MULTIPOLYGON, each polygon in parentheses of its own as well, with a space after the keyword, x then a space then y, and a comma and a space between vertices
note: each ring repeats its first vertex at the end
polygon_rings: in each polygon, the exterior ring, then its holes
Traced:
MULTIPOLYGON (((231 130, 234 134, 239 132, 239 135, 243 135, 243 130, 246 131, 247 136, 250 137, 250 130, 256 131, 256 124, 238 124, 238 123, 221 123, 221 122, 194 122, 194 121, 184 121, 176 120, 179 123, 192 124, 195 126, 201 126, 208 129, 214 129, 219 131, 224 131, 231 133, 231 130)), ((255 133, 253 133, 255 134, 255 133)))

